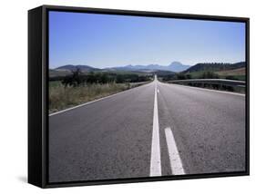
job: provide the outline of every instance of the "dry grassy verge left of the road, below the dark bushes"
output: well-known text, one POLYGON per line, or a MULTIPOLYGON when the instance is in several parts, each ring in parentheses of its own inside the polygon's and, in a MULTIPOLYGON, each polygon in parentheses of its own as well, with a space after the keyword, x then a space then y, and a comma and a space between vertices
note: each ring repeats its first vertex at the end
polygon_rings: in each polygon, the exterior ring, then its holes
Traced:
POLYGON ((49 113, 58 112, 84 102, 137 87, 139 83, 106 83, 87 84, 77 87, 65 87, 60 81, 49 82, 49 113))

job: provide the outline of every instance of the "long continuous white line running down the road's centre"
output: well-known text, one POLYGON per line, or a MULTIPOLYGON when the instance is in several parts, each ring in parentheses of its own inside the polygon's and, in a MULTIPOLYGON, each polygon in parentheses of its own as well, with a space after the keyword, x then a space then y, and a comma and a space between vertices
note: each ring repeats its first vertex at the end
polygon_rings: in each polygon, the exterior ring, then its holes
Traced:
POLYGON ((158 108, 158 93, 157 83, 155 83, 155 100, 154 100, 154 116, 153 116, 153 131, 151 143, 151 160, 150 160, 150 176, 161 176, 161 157, 159 143, 159 108, 158 108))

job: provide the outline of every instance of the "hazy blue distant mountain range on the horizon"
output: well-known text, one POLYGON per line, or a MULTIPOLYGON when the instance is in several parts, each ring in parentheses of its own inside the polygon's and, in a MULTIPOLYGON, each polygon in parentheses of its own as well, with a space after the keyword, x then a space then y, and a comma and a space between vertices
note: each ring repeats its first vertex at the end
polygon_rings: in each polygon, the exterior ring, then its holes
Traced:
POLYGON ((190 65, 182 64, 179 62, 170 63, 168 66, 159 64, 148 64, 148 65, 126 65, 111 68, 98 69, 88 65, 73 65, 67 64, 64 66, 57 67, 57 71, 74 71, 79 68, 82 72, 95 72, 95 71, 137 71, 137 72, 152 72, 152 71, 169 71, 179 73, 189 69, 190 65))

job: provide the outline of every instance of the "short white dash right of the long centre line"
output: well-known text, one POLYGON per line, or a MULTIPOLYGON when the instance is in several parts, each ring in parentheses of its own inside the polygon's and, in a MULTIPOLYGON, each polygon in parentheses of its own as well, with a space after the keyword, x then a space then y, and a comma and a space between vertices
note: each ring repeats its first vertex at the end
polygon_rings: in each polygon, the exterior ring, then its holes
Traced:
POLYGON ((169 152, 170 168, 173 175, 185 174, 182 161, 179 157, 179 151, 176 146, 176 142, 173 137, 173 133, 170 128, 165 129, 165 136, 167 141, 167 147, 169 152))

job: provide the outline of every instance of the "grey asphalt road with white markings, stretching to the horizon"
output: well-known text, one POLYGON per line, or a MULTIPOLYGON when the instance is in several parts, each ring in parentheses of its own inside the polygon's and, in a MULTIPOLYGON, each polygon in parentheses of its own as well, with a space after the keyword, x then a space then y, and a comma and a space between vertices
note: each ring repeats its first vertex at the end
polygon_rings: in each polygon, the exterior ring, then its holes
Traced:
POLYGON ((49 182, 245 170, 245 96, 155 79, 49 116, 49 182))

